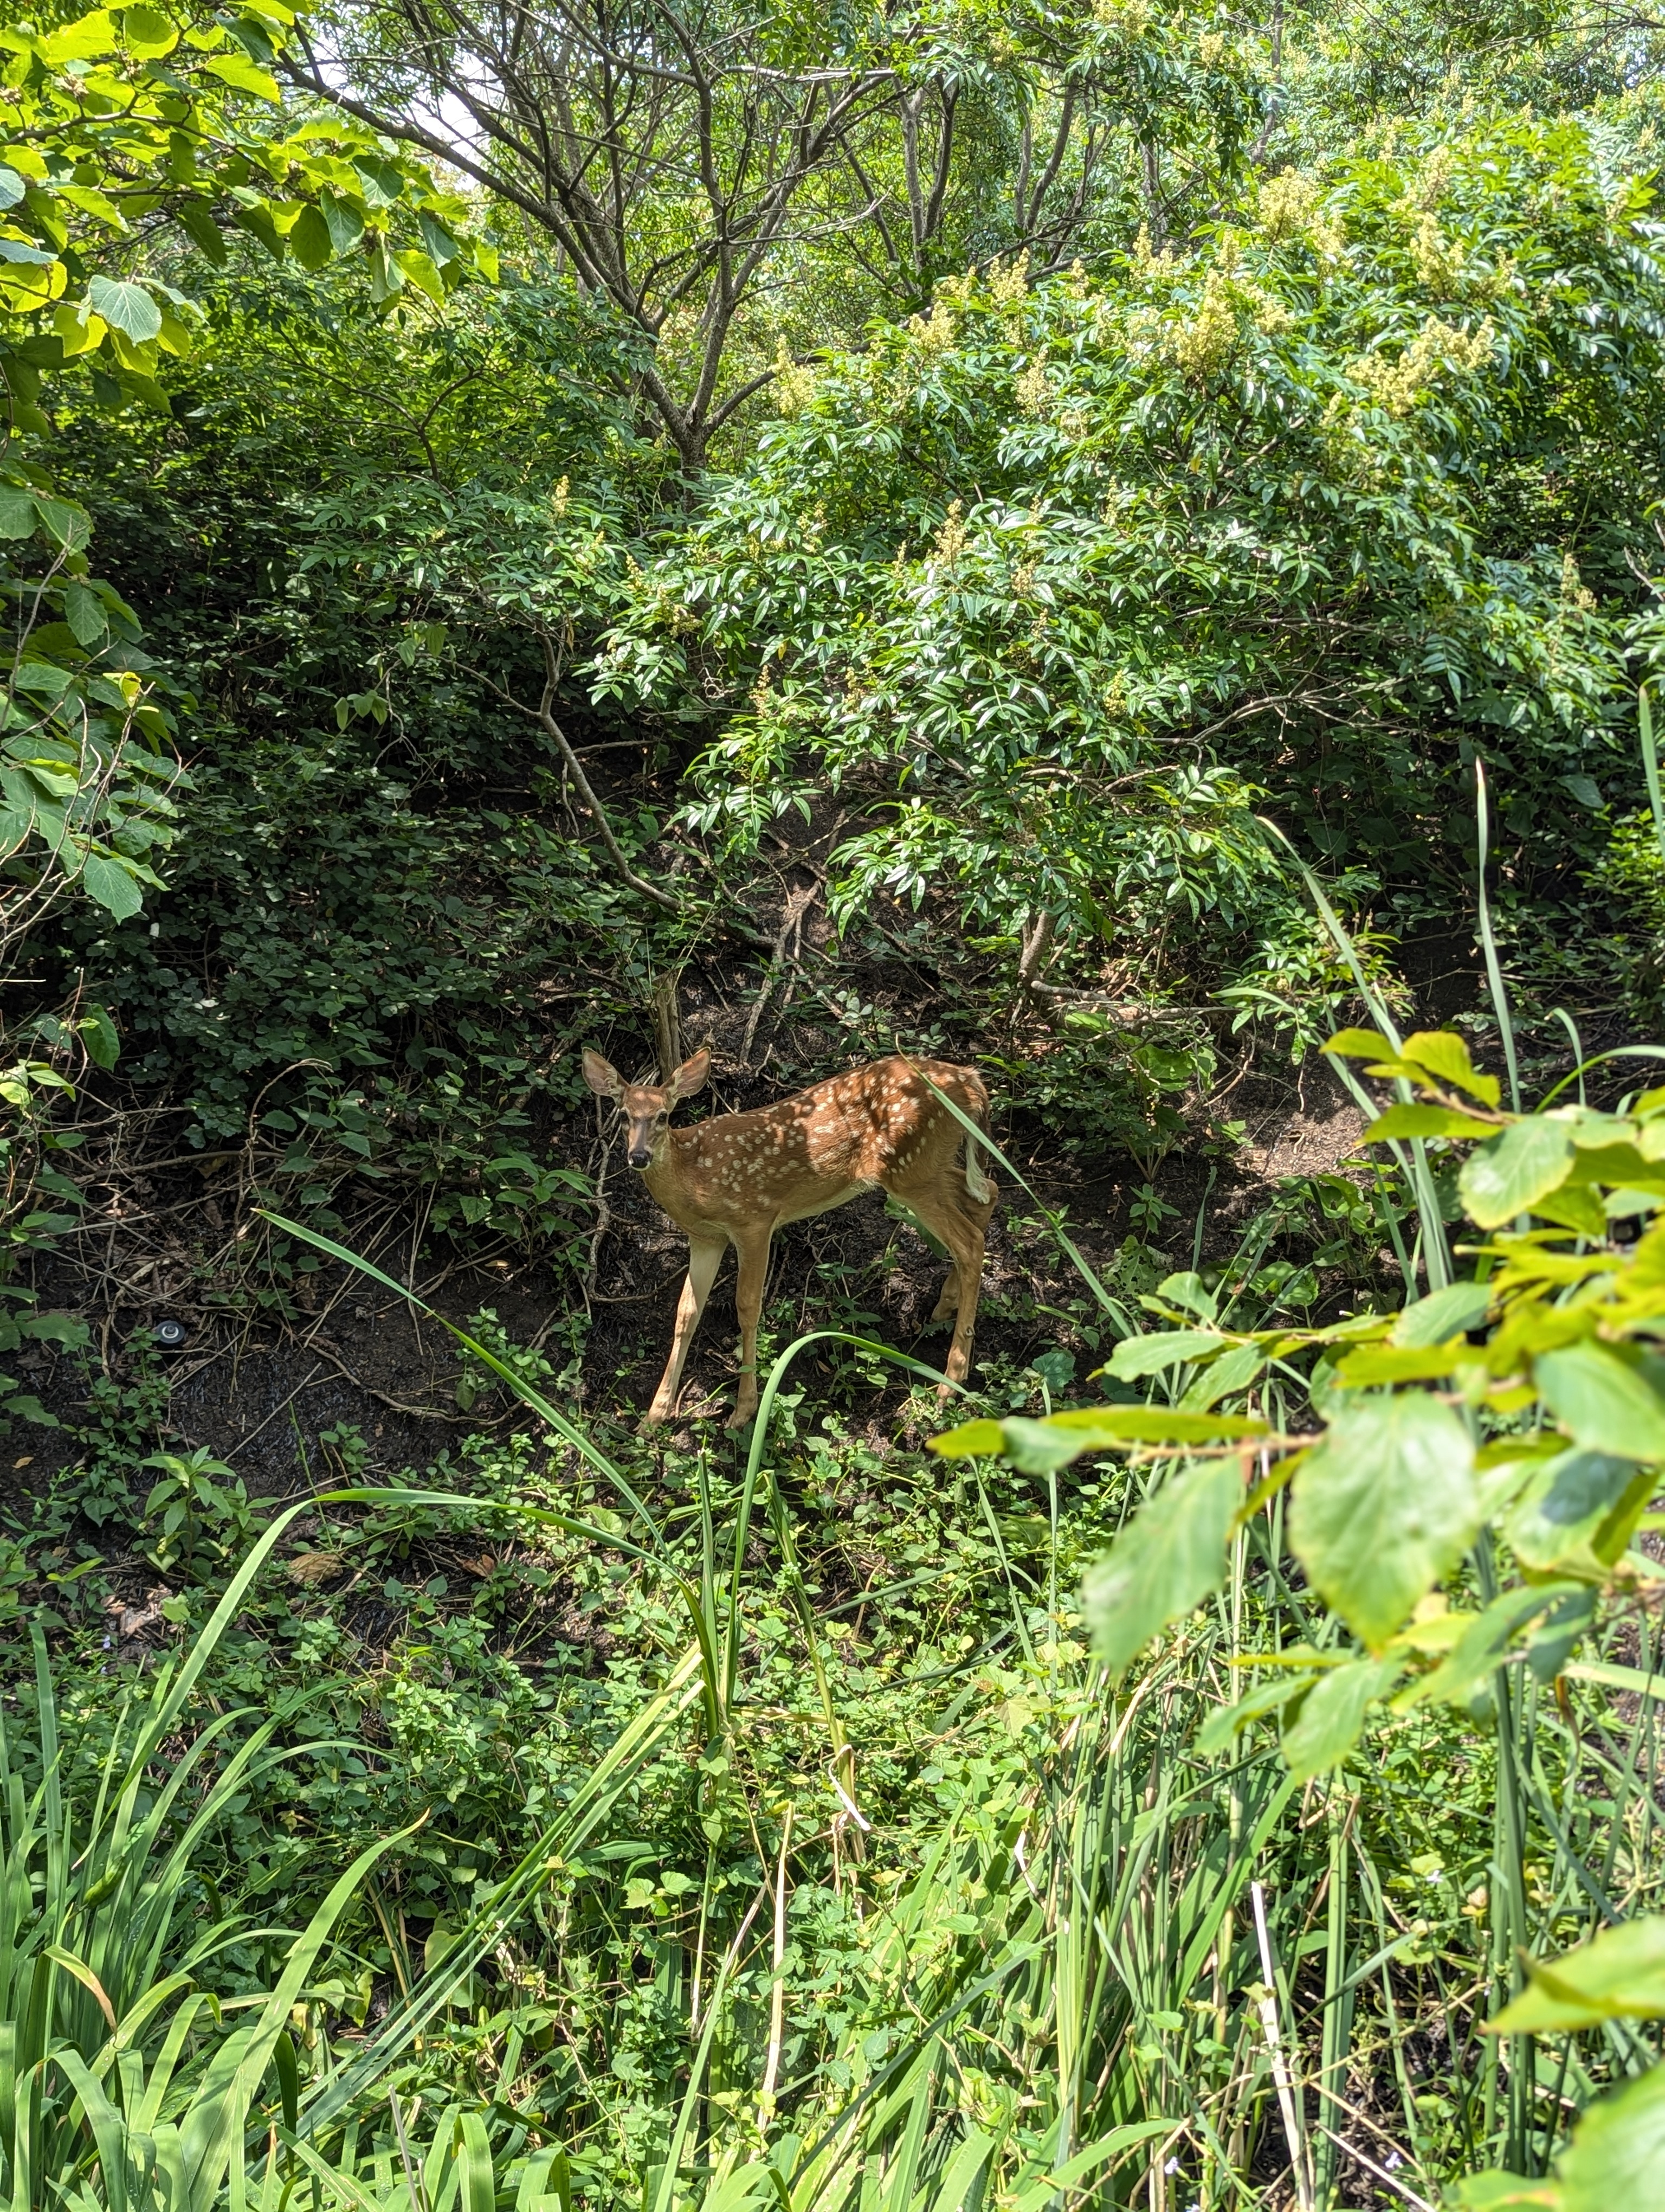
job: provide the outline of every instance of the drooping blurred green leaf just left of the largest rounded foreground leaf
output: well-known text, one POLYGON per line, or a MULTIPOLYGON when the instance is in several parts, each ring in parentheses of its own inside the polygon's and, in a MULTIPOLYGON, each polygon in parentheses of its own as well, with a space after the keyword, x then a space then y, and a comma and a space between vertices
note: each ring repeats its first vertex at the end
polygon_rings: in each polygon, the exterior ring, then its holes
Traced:
POLYGON ((1232 1460, 1198 1460, 1165 1482, 1088 1566, 1081 1610, 1112 1674, 1123 1674, 1154 1635, 1221 1586, 1240 1500, 1232 1460))

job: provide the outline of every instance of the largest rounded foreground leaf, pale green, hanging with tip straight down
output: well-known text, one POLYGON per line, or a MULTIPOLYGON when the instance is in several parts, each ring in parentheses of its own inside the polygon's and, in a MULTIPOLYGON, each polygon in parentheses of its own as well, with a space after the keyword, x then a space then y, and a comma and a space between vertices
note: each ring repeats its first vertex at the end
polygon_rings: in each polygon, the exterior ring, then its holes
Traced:
POLYGON ((1289 1540, 1307 1579, 1380 1650, 1479 1533, 1475 1447, 1437 1398, 1349 1405, 1296 1475, 1289 1540))

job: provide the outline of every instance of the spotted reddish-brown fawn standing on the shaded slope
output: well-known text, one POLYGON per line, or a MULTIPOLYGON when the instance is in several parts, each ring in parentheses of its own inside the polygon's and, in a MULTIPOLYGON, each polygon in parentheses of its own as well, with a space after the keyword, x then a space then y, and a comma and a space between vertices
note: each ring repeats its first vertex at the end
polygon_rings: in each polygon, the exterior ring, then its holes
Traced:
POLYGON ((955 1121, 931 1084, 988 1128, 988 1091, 977 1071, 944 1060, 873 1060, 774 1106, 672 1128, 672 1108, 705 1084, 710 1064, 710 1053, 701 1051, 666 1084, 626 1084, 599 1053, 584 1053, 584 1082, 597 1097, 612 1099, 626 1119, 630 1166, 677 1228, 688 1232, 677 1334, 643 1427, 677 1411, 688 1345, 727 1245, 739 1252, 741 1267, 734 1294, 741 1387, 730 1429, 752 1420, 769 1239, 785 1221, 831 1212, 862 1190, 891 1192, 949 1248, 953 1270, 931 1321, 953 1314, 944 1371, 964 1383, 995 1186, 977 1161, 977 1139, 955 1121), (964 1166, 957 1159, 962 1137, 964 1166))

